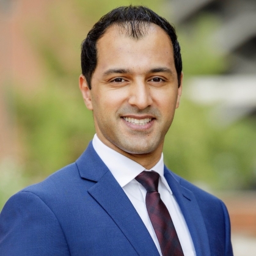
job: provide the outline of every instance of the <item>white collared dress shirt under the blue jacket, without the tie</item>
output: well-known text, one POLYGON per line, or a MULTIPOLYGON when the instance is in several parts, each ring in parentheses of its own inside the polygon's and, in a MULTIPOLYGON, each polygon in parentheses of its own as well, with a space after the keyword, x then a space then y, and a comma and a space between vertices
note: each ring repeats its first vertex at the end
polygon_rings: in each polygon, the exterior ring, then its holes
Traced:
MULTIPOLYGON (((92 145, 104 164, 106 164, 112 175, 115 177, 115 180, 117 180, 119 185, 123 188, 126 196, 128 196, 130 199, 137 213, 147 227, 148 232, 152 236, 159 254, 162 256, 158 238, 156 237, 155 230, 153 229, 153 226, 150 222, 150 218, 148 216, 147 208, 145 205, 145 197, 147 191, 144 186, 141 185, 141 183, 134 179, 137 175, 144 171, 145 168, 130 158, 127 158, 126 156, 116 152, 115 150, 112 150, 112 148, 109 148, 103 144, 103 142, 98 139, 97 134, 95 134, 93 137, 92 145)), ((166 178, 164 178, 163 153, 159 162, 154 167, 152 167, 151 170, 158 172, 160 175, 158 192, 164 204, 166 205, 170 216, 172 216, 172 221, 174 222, 174 226, 184 255, 195 256, 196 252, 194 249, 194 244, 192 243, 188 226, 186 225, 186 221, 183 217, 183 214, 181 213, 180 207, 178 206, 174 195, 172 194, 166 178)))

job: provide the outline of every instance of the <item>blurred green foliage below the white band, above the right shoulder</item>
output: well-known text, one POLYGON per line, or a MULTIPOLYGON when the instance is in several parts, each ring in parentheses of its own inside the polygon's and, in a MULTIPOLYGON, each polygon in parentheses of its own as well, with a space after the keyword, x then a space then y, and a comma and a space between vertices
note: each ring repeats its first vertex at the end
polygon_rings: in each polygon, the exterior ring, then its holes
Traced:
POLYGON ((211 108, 184 99, 164 143, 164 162, 209 189, 256 188, 256 121, 214 123, 211 108))

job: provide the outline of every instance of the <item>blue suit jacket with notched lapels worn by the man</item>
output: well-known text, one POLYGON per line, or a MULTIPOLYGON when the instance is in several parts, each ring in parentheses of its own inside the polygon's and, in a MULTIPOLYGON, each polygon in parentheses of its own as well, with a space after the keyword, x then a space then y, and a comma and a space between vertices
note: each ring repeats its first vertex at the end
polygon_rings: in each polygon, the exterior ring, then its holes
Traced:
MULTIPOLYGON (((230 256, 224 203, 164 169, 197 256, 230 256)), ((89 144, 76 161, 15 194, 0 215, 1 256, 156 256, 130 200, 89 144)))

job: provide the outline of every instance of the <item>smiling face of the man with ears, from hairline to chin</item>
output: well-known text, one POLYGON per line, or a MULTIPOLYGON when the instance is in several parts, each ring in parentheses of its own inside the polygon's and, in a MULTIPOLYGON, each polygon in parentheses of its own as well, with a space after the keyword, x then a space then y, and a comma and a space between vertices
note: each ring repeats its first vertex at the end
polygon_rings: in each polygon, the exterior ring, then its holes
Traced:
POLYGON ((97 42, 92 89, 83 76, 79 84, 104 144, 123 155, 161 154, 181 95, 172 43, 161 27, 151 24, 139 40, 109 27, 97 42))

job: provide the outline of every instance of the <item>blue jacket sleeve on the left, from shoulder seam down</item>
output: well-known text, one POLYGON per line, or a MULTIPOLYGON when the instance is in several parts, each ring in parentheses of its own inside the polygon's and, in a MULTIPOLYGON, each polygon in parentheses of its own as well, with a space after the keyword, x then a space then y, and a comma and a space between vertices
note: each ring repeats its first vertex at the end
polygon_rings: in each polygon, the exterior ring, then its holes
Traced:
POLYGON ((32 192, 18 192, 0 214, 0 256, 68 256, 68 244, 53 211, 32 192))

